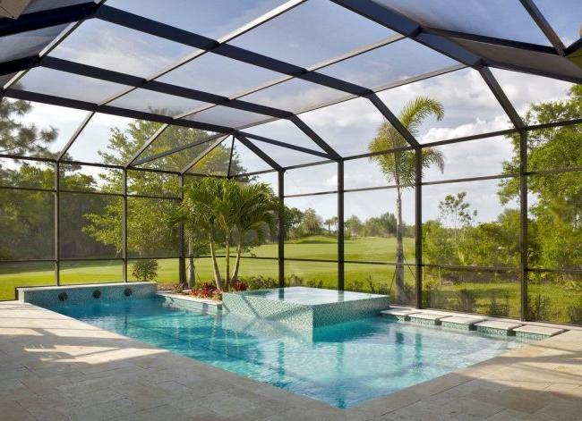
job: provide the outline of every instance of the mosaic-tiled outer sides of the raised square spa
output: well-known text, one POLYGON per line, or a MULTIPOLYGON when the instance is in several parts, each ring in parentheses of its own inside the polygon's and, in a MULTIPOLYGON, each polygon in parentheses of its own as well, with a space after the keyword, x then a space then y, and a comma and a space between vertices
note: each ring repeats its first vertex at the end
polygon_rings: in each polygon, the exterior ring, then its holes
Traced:
POLYGON ((304 305, 277 299, 225 293, 222 306, 230 313, 254 316, 292 325, 295 328, 312 330, 314 327, 348 322, 364 317, 378 316, 389 307, 386 297, 357 299, 352 301, 304 305))

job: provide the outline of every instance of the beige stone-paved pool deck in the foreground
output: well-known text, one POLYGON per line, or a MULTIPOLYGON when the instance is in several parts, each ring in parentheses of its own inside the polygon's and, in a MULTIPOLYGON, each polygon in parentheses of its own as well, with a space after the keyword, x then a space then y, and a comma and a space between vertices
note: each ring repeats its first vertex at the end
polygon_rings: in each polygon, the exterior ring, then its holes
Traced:
POLYGON ((4 420, 578 420, 582 331, 350 409, 18 301, 0 302, 4 420))

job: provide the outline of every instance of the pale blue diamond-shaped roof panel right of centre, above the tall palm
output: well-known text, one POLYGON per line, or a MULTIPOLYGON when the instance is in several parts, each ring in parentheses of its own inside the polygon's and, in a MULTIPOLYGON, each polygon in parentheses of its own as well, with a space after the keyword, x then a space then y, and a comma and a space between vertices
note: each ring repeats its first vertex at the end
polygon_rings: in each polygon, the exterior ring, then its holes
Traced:
POLYGON ((323 67, 317 72, 374 89, 454 64, 458 62, 412 39, 404 38, 323 67))

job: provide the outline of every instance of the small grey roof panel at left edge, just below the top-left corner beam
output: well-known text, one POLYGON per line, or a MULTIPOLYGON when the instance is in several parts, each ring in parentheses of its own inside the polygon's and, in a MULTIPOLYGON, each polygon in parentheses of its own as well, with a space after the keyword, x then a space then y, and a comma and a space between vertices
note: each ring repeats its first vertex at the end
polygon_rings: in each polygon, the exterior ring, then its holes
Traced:
POLYGON ((38 55, 66 28, 66 25, 21 32, 0 38, 0 61, 38 55))

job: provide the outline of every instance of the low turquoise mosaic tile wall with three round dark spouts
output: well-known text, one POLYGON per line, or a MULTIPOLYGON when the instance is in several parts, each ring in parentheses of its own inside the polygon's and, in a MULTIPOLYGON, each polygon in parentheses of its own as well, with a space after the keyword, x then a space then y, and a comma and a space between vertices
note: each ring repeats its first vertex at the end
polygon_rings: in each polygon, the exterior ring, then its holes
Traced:
POLYGON ((156 282, 93 283, 61 287, 19 288, 18 299, 40 307, 55 307, 114 301, 120 299, 147 299, 158 292, 156 282))

